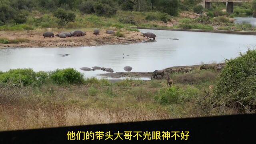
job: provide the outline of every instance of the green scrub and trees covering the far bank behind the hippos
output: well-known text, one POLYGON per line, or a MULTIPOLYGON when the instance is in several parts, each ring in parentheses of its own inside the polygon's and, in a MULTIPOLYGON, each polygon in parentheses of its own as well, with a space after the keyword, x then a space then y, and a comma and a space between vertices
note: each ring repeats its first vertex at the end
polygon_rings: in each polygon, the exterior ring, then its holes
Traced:
MULTIPOLYGON (((225 2, 212 9, 200 0, 0 0, 0 30, 40 28, 123 28, 146 26, 206 30, 255 31, 250 24, 234 24, 233 17, 254 14, 256 2, 234 3, 227 14, 225 2)), ((129 29, 134 30, 134 29, 129 29)), ((136 30, 136 29, 135 29, 136 30)))

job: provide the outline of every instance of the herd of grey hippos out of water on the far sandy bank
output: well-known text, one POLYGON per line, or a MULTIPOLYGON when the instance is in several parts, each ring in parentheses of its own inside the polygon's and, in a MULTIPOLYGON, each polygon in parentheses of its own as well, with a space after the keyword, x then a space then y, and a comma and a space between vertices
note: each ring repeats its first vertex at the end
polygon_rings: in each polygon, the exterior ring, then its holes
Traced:
MULTIPOLYGON (((106 34, 115 34, 116 32, 114 30, 106 30, 106 34)), ((94 29, 93 34, 95 34, 96 36, 100 34, 100 30, 98 28, 94 29)), ((66 38, 66 37, 78 37, 78 36, 85 36, 86 32, 82 32, 81 30, 75 30, 72 32, 60 32, 58 34, 56 34, 55 36, 58 36, 60 38, 66 38)), ((44 38, 54 38, 54 33, 53 32, 44 32, 43 34, 44 38)), ((153 40, 155 40, 156 35, 153 34, 152 32, 146 32, 143 34, 143 38, 144 37, 147 38, 153 38, 153 40)))

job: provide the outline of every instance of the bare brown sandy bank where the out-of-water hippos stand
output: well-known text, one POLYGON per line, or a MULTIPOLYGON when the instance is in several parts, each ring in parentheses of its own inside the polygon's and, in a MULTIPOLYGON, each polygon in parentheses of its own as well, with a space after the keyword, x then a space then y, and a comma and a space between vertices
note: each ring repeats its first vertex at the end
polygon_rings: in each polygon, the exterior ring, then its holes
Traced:
MULTIPOLYGON (((54 32, 54 35, 61 31, 54 32)), ((140 32, 122 32, 123 38, 134 38, 136 41, 118 40, 116 36, 106 34, 106 30, 101 30, 100 35, 96 36, 93 31, 86 31, 85 36, 81 37, 66 37, 59 38, 44 38, 43 32, 33 31, 1 31, 0 38, 8 38, 10 40, 16 38, 28 39, 29 42, 18 44, 0 44, 0 48, 12 47, 12 48, 26 48, 26 47, 72 47, 72 46, 100 46, 106 44, 130 44, 135 42, 142 42, 146 40, 143 38, 140 32)))

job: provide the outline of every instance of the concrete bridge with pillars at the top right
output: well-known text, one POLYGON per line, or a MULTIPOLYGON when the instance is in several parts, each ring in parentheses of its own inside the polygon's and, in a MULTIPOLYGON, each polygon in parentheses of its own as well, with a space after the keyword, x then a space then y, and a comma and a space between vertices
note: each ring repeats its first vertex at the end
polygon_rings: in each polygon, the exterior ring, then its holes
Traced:
POLYGON ((234 2, 251 2, 252 0, 204 0, 200 4, 204 8, 211 8, 212 2, 226 2, 226 12, 232 13, 234 10, 234 2))

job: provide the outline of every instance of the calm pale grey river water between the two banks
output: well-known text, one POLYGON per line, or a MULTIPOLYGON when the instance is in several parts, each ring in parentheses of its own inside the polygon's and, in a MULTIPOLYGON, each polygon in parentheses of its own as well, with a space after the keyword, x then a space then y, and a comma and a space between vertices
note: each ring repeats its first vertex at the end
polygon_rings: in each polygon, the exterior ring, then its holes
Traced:
MULTIPOLYGON (((0 70, 33 68, 50 71, 57 68, 76 68, 86 77, 98 77, 102 70, 82 71, 81 67, 101 66, 114 72, 152 72, 171 66, 184 66, 223 62, 235 58, 247 47, 256 46, 256 36, 210 32, 184 32, 167 30, 140 30, 156 34, 156 42, 127 45, 86 46, 72 48, 2 48, 0 70), (178 38, 179 40, 169 40, 178 38), (62 57, 60 54, 70 54, 62 57), (130 55, 130 56, 124 56, 130 55)), ((146 79, 146 78, 141 78, 146 79)))

